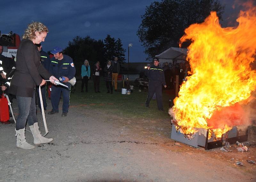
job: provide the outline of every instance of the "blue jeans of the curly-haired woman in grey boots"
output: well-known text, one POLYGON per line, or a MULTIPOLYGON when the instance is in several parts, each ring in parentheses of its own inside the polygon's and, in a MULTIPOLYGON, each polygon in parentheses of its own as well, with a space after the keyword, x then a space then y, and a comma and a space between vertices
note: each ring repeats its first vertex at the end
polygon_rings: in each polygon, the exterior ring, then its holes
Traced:
POLYGON ((29 126, 37 122, 35 97, 35 91, 32 98, 16 96, 19 107, 19 115, 16 121, 17 131, 26 127, 27 120, 29 126))

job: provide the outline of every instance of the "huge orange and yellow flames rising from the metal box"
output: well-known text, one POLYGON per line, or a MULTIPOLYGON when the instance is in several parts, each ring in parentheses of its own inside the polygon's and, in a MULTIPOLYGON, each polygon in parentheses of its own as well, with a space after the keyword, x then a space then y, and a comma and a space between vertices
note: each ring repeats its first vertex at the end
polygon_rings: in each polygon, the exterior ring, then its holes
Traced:
POLYGON ((188 61, 192 75, 174 100, 174 118, 186 134, 210 129, 216 137, 248 122, 241 103, 256 88, 250 64, 256 50, 256 8, 241 11, 237 27, 222 28, 216 12, 185 30, 181 42, 192 40, 188 61))

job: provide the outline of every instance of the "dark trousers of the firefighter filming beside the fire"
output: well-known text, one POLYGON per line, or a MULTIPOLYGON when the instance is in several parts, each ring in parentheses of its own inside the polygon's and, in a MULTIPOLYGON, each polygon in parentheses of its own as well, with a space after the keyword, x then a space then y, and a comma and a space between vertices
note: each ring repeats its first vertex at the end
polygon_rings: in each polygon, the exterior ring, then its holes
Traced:
POLYGON ((146 100, 146 106, 149 106, 149 102, 152 99, 155 92, 156 92, 157 107, 159 110, 163 110, 162 83, 160 82, 160 80, 149 80, 149 82, 148 82, 148 97, 146 100))

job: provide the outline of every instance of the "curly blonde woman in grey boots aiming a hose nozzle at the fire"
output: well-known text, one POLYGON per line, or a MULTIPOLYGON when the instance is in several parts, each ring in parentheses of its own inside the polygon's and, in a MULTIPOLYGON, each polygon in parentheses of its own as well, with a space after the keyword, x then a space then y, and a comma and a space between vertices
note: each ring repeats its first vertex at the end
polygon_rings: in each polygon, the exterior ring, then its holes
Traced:
POLYGON ((28 25, 19 45, 16 57, 16 71, 13 74, 9 93, 16 95, 19 115, 16 121, 16 146, 23 149, 32 149, 25 140, 25 127, 28 120, 29 128, 34 137, 34 144, 48 143, 48 139, 41 135, 36 118, 36 85, 44 85, 45 80, 54 83, 56 79, 40 64, 40 53, 35 44, 44 42, 48 29, 40 22, 28 25), (44 79, 42 79, 42 77, 44 79))

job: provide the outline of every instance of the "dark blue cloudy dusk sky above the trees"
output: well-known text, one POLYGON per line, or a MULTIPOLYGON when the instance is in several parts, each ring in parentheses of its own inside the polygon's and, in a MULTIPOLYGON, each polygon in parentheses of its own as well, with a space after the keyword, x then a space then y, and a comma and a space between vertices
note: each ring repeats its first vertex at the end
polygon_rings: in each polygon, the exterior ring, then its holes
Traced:
MULTIPOLYGON (((66 48, 68 41, 77 35, 89 35, 98 40, 110 34, 115 39, 121 38, 126 49, 126 62, 129 43, 133 44, 130 48, 130 61, 144 62, 147 55, 143 53, 144 47, 136 32, 142 20, 141 15, 152 2, 154 0, 4 0, 1 1, 0 30, 4 34, 12 31, 22 36, 28 23, 40 21, 49 29, 45 42, 42 42, 44 51, 54 46, 66 48)), ((221 23, 232 26, 239 9, 232 9, 233 0, 220 2, 226 4, 224 21, 221 23)))

